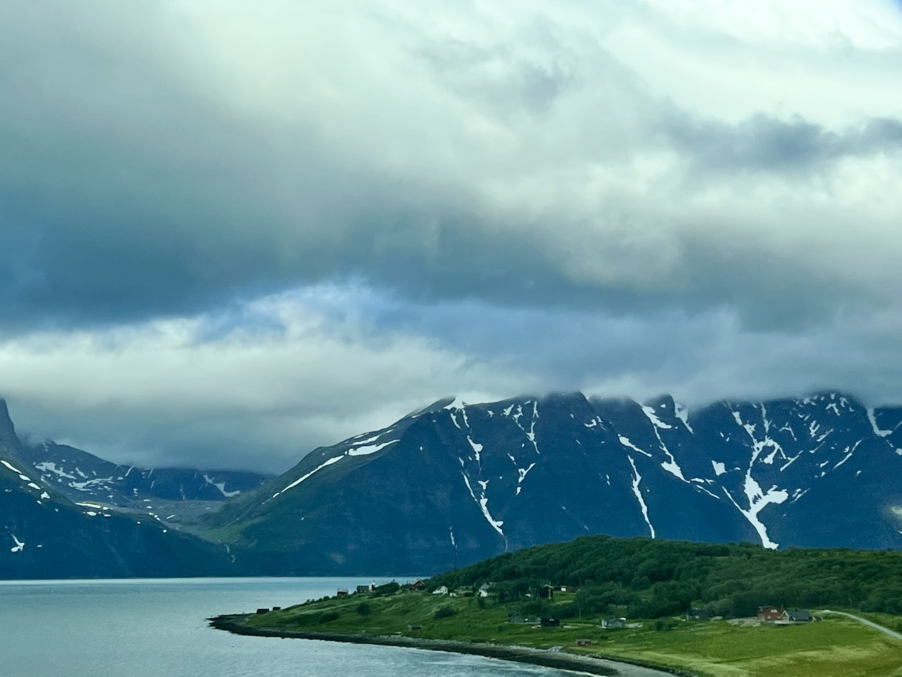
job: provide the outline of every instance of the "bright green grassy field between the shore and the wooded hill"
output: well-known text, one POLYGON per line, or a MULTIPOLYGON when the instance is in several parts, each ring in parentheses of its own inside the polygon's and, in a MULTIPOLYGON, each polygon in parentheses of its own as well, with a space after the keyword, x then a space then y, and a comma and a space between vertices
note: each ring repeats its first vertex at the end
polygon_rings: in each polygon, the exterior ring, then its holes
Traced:
MULTIPOLYGON (((566 601, 566 595, 561 596, 566 601)), ((557 601, 558 595, 556 595, 557 601)), ((866 615, 896 628, 898 617, 866 615)), ((248 623, 348 635, 394 635, 491 642, 625 658, 684 668, 705 677, 902 677, 902 641, 844 617, 806 626, 740 626, 667 618, 641 627, 603 630, 598 618, 568 619, 561 627, 507 622, 507 607, 476 598, 398 592, 369 598, 331 598, 253 616, 248 623), (452 615, 437 617, 442 608, 452 615), (421 625, 420 630, 409 630, 421 625), (656 629, 666 626, 667 629, 656 629), (586 648, 577 639, 592 640, 586 648)))

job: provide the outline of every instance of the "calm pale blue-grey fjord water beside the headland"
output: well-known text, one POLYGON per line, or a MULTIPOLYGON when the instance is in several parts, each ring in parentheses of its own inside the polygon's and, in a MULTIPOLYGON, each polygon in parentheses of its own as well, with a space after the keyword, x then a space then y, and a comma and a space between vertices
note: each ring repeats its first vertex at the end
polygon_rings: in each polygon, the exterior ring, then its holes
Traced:
MULTIPOLYGON (((231 635, 207 617, 288 607, 369 579, 0 581, 3 677, 563 677, 391 646, 231 635)), ((385 582, 385 581, 380 581, 385 582)))

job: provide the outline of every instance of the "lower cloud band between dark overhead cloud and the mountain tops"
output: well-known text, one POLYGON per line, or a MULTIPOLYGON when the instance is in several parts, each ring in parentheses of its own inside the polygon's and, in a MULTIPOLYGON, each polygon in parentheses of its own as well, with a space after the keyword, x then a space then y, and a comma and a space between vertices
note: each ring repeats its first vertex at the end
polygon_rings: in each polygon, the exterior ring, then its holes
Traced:
POLYGON ((897 314, 750 331, 732 311, 612 317, 319 286, 196 318, 0 343, 21 431, 145 466, 278 472, 447 394, 690 405, 841 388, 902 402, 897 314), (879 368, 875 368, 875 363, 879 368))

